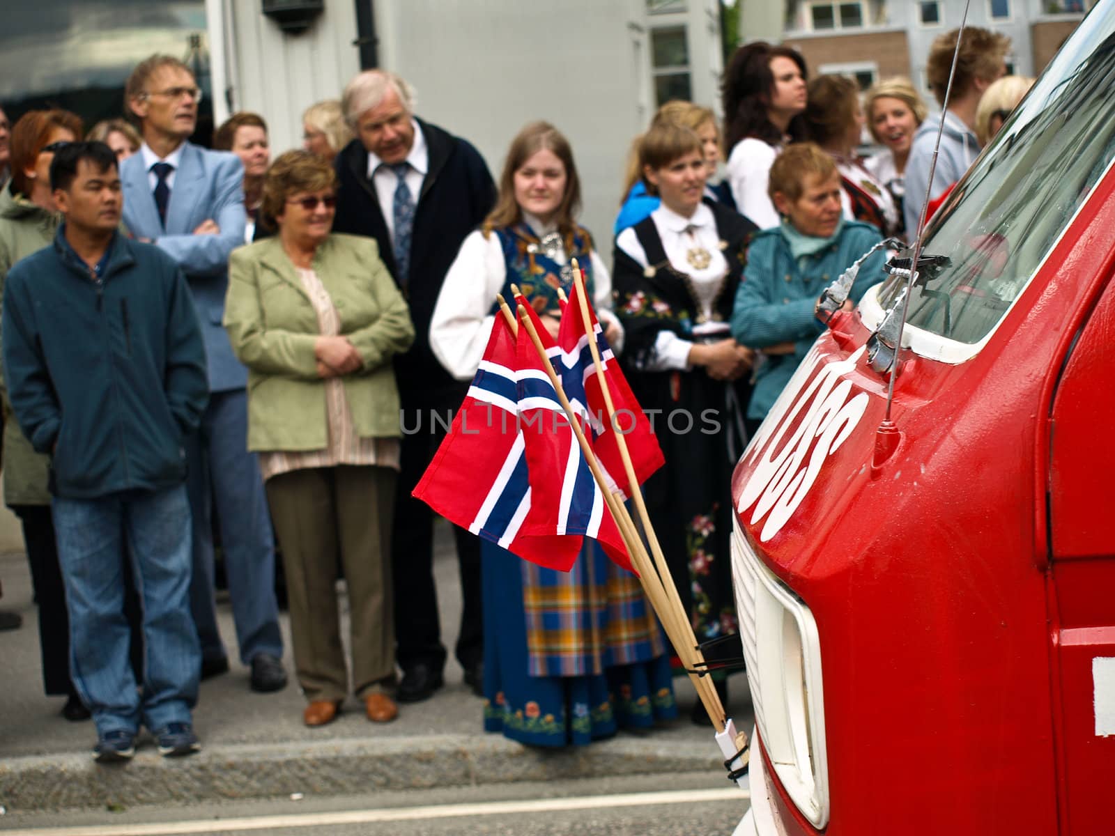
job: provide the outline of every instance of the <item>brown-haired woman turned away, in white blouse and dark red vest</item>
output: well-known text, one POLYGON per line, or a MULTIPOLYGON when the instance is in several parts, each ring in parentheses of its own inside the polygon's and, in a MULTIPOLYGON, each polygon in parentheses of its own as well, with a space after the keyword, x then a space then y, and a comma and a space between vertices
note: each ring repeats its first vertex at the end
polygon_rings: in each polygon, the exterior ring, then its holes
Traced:
POLYGON ((836 163, 844 217, 869 223, 884 236, 899 234, 902 218, 894 197, 855 153, 864 124, 859 86, 845 76, 817 76, 808 90, 806 129, 809 139, 836 163))

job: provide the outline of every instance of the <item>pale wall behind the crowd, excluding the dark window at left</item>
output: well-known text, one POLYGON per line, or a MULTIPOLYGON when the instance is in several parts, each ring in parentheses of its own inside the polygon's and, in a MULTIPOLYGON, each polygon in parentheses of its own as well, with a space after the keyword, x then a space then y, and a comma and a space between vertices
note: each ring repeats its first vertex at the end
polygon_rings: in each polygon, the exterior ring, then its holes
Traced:
MULTIPOLYGON (((582 223, 611 252, 631 140, 653 115, 652 26, 687 27, 692 98, 716 106, 719 0, 648 14, 647 0, 375 0, 379 66, 418 93, 417 113, 472 142, 495 178, 512 137, 546 119, 573 145, 582 223)), ((302 110, 359 70, 353 0, 326 0, 304 33, 283 35, 256 0, 223 0, 232 109, 255 110, 278 152, 301 143, 302 110)))

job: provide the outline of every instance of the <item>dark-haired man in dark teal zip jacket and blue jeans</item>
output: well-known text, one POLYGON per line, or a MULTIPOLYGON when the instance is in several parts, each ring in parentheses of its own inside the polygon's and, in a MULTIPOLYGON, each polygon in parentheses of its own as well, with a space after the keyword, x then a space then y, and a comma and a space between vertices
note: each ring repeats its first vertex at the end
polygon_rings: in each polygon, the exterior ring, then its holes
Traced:
POLYGON ((120 178, 107 145, 59 149, 50 183, 64 222, 54 246, 8 273, 3 364, 20 427, 51 456, 70 673, 97 726, 98 761, 130 758, 140 723, 163 755, 190 755, 201 655, 183 439, 206 401, 197 315, 174 260, 117 232, 120 178), (142 698, 126 560, 143 601, 142 698))

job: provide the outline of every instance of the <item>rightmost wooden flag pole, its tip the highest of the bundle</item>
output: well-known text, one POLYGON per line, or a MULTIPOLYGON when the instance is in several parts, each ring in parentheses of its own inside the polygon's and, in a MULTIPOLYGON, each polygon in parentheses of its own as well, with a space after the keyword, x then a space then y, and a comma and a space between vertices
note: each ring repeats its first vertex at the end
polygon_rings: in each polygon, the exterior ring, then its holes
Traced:
MULTIPOLYGON (((634 465, 631 463, 631 453, 628 450, 627 439, 623 437, 623 434, 619 430, 619 427, 615 424, 615 405, 612 400, 612 392, 608 385, 608 378, 604 375, 604 364, 600 358, 600 348, 597 346, 597 332, 592 327, 592 317, 589 313, 589 298, 586 295, 584 274, 581 272, 580 265, 576 263, 576 259, 573 259, 572 268, 573 283, 576 286, 581 321, 584 324, 584 333, 588 337, 589 351, 592 353, 592 362, 597 369, 597 379, 600 381, 601 393, 604 398, 604 407, 608 409, 608 420, 611 422, 612 430, 615 434, 617 447, 620 451, 620 458, 623 460, 623 469, 627 473, 630 495, 634 502, 636 511, 639 514, 639 521, 642 523, 643 531, 647 534, 647 541, 650 544, 651 553, 655 555, 655 564, 658 566, 658 573, 661 579, 662 587, 670 601, 671 610, 676 614, 680 614, 681 623, 683 624, 681 636, 683 643, 688 642, 688 648, 686 654, 681 657, 681 660, 682 663, 687 664, 690 670, 694 670, 697 667, 691 664, 692 662, 704 668, 705 660, 697 645, 697 636, 694 635, 692 624, 689 621, 689 614, 685 611, 685 607, 681 604, 681 597, 678 595, 678 590, 673 584, 669 566, 666 564, 666 556, 662 554, 662 547, 658 542, 658 535, 655 533, 653 525, 651 525, 650 514, 647 512, 647 504, 642 496, 642 489, 639 486, 639 479, 634 473, 634 465), (688 660, 686 659, 686 655, 689 657, 688 660)), ((676 649, 678 649, 677 645, 676 649)), ((679 654, 681 653, 680 649, 678 649, 678 652, 679 654)), ((705 678, 701 677, 700 679, 704 680, 705 678)), ((705 703, 705 709, 708 711, 708 716, 711 717, 714 721, 719 720, 720 728, 724 728, 727 716, 724 706, 720 702, 720 697, 711 683, 706 682, 705 684, 706 688, 698 689, 701 702, 705 703)))

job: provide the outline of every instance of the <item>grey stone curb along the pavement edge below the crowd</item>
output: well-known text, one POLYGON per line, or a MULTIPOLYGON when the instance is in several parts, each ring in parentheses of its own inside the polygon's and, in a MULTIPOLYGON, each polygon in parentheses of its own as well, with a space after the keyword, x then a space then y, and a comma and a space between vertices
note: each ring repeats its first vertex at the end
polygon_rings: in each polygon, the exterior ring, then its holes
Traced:
POLYGON ((8 759, 0 764, 0 804, 10 813, 104 809, 719 768, 711 742, 630 737, 553 751, 467 735, 235 745, 182 759, 145 747, 120 766, 99 766, 89 755, 8 759))

